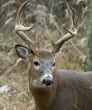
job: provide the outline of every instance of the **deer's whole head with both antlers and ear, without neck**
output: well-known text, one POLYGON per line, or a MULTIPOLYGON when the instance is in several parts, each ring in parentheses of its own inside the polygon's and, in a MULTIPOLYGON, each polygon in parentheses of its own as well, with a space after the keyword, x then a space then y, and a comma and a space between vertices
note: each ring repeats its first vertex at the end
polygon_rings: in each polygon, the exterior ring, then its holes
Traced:
POLYGON ((15 49, 19 57, 23 59, 29 59, 29 80, 31 86, 47 87, 53 85, 54 83, 56 53, 59 52, 60 48, 66 41, 77 35, 77 30, 73 26, 72 13, 68 4, 66 3, 68 13, 70 15, 69 29, 64 27, 67 33, 63 34, 63 36, 57 42, 53 42, 53 40, 51 40, 52 50, 34 49, 33 46, 35 46, 36 42, 29 39, 29 37, 25 34, 25 31, 32 30, 32 28, 38 23, 35 23, 29 27, 25 27, 22 23, 20 23, 21 12, 24 6, 29 2, 30 0, 26 1, 19 8, 15 25, 16 33, 26 42, 28 48, 17 44, 15 46, 15 49))

